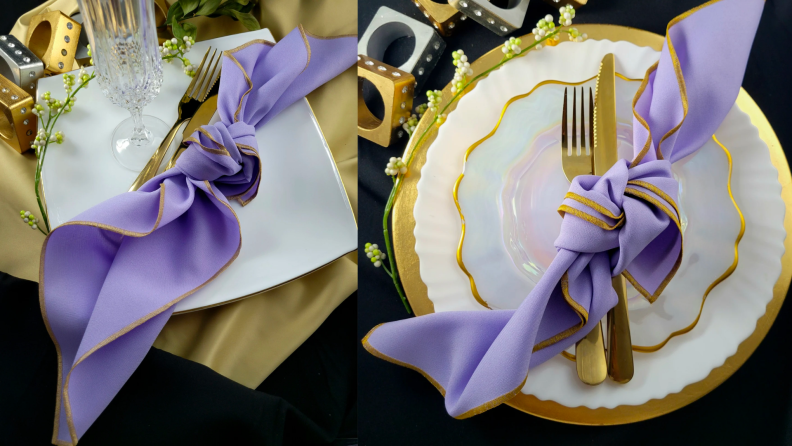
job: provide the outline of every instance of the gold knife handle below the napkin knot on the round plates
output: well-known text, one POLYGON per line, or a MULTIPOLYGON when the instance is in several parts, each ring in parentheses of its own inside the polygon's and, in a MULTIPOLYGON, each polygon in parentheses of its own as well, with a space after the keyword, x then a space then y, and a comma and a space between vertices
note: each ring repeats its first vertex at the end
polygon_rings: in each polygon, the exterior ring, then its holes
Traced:
POLYGON ((608 376, 617 383, 626 383, 632 379, 635 370, 624 276, 620 274, 613 278, 613 289, 619 300, 608 311, 608 376))

